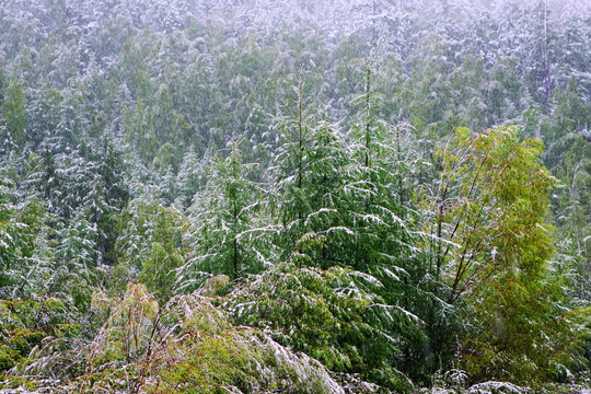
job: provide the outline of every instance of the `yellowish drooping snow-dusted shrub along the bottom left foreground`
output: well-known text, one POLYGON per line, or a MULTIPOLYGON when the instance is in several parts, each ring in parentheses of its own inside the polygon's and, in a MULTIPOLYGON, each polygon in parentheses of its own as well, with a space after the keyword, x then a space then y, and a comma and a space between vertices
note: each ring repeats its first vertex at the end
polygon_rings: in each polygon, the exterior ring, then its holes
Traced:
POLYGON ((83 373, 67 384, 80 393, 333 393, 336 383, 317 361, 297 355, 263 333, 234 327, 213 299, 199 293, 163 306, 138 283, 123 299, 95 293, 108 318, 83 349, 83 373))

